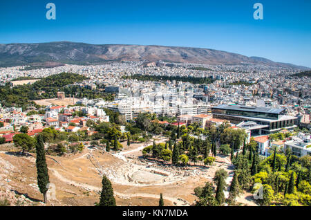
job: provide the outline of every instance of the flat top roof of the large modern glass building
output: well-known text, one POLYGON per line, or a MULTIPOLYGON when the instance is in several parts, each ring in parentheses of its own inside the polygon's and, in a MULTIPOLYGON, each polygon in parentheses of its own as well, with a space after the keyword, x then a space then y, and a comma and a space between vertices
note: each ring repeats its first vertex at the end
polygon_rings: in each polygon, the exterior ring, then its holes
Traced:
POLYGON ((270 109, 270 108, 266 108, 266 107, 247 107, 244 105, 227 105, 227 104, 220 104, 216 107, 212 107, 211 109, 253 111, 253 112, 274 113, 274 114, 280 114, 285 110, 285 109, 270 109))

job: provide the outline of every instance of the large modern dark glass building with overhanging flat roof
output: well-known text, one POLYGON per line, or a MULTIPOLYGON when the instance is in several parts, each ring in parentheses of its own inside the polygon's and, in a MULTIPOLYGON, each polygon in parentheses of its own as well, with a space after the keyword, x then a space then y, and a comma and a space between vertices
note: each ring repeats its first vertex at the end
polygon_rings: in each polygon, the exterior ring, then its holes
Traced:
POLYGON ((213 118, 229 120, 234 124, 243 121, 254 121, 258 125, 267 125, 262 134, 271 134, 281 129, 292 130, 296 125, 296 117, 284 115, 285 109, 270 109, 265 107, 247 107, 242 105, 220 104, 211 108, 213 118))

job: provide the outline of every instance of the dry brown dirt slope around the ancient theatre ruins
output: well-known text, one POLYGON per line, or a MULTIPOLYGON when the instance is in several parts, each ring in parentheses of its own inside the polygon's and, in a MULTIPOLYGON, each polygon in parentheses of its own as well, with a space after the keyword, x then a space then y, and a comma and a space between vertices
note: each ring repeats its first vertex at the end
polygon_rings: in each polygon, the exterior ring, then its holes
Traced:
MULTIPOLYGON (((160 139, 158 141, 162 142, 160 139)), ((146 164, 136 158, 142 154, 140 148, 143 146, 131 144, 129 149, 124 149, 118 155, 88 147, 75 155, 46 155, 50 183, 55 184, 56 198, 50 199, 47 205, 94 205, 99 201, 103 173, 111 179, 117 205, 158 205, 160 193, 163 194, 164 205, 191 205, 196 199, 195 187, 211 181, 214 172, 220 167, 229 171, 227 158, 218 157, 215 165, 202 166, 200 172, 193 172, 192 168, 185 171, 173 167, 156 168, 155 163, 150 168, 151 163, 146 164), (122 160, 124 158, 125 161, 122 160), (131 180, 133 171, 149 169, 165 169, 164 172, 168 172, 169 176, 163 176, 163 179, 169 181, 140 184, 131 180)), ((23 205, 44 205, 37 188, 35 154, 20 156, 16 152, 19 150, 12 145, 0 145, 0 199, 1 195, 3 197, 14 193, 15 198, 23 199, 23 205)), ((245 198, 249 199, 250 196, 243 195, 238 202, 256 205, 245 198)), ((15 203, 13 199, 12 204, 15 203)))

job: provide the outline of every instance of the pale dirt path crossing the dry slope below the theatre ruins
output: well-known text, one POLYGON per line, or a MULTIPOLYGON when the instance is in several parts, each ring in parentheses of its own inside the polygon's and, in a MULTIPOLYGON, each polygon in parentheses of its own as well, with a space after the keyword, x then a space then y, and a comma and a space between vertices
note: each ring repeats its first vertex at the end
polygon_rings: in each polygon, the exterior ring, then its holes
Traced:
MULTIPOLYGON (((84 184, 84 183, 76 183, 75 181, 70 181, 70 180, 68 180, 68 178, 65 178, 64 176, 62 176, 62 174, 59 174, 59 172, 57 172, 56 169, 53 169, 53 168, 49 168, 49 169, 53 172, 53 174, 60 181, 63 181, 64 183, 68 183, 70 185, 75 185, 76 187, 82 187, 84 190, 88 190, 88 191, 100 192, 102 190, 100 187, 95 187, 93 185, 88 185, 88 184, 84 184)), ((115 190, 114 190, 114 194, 116 196, 121 196, 121 197, 146 197, 146 198, 160 199, 159 195, 147 194, 147 193, 123 194, 120 192, 115 192, 115 190)), ((178 199, 178 198, 163 196, 163 199, 169 200, 173 204, 178 205, 178 206, 189 205, 189 204, 185 204, 185 201, 182 201, 181 199, 178 199)))

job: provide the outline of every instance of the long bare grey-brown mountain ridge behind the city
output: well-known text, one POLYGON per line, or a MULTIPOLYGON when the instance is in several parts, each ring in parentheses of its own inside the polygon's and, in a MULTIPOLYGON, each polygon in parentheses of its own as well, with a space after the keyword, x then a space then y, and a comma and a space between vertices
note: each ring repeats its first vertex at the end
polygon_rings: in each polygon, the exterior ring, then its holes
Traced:
POLYGON ((26 64, 104 64, 111 61, 189 62, 198 64, 265 64, 289 68, 305 68, 273 62, 262 57, 247 57, 206 48, 178 46, 140 46, 118 44, 84 44, 50 42, 41 44, 0 44, 0 66, 26 64))

